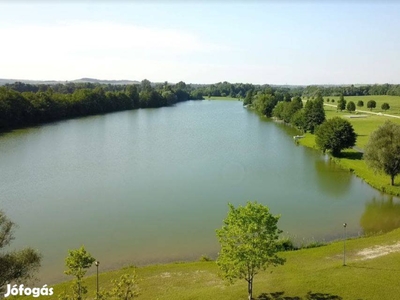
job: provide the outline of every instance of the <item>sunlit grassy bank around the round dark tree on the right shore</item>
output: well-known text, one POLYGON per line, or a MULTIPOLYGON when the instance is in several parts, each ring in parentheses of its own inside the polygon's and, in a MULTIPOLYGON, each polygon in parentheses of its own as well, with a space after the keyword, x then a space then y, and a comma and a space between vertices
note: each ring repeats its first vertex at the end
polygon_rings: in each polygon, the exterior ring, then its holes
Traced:
MULTIPOLYGON (((376 97, 377 96, 375 96, 375 98, 376 97)), ((397 97, 397 100, 400 103, 400 97, 397 97)), ((366 115, 363 118, 350 118, 351 114, 348 112, 337 112, 334 107, 330 106, 325 106, 325 112, 328 119, 335 116, 340 116, 350 121, 358 135, 356 146, 360 149, 365 147, 369 140, 370 134, 379 126, 381 126, 386 120, 400 124, 400 119, 377 115, 366 115)), ((300 139, 299 142, 304 146, 317 149, 315 144, 315 136, 310 133, 307 133, 305 138, 300 139)), ((362 178, 374 188, 391 195, 400 196, 400 178, 397 177, 395 180, 395 186, 391 186, 390 177, 388 175, 375 173, 371 168, 369 168, 362 159, 362 153, 359 153, 355 150, 344 150, 342 151, 342 155, 340 157, 335 157, 332 159, 343 168, 350 170, 355 175, 362 178)))

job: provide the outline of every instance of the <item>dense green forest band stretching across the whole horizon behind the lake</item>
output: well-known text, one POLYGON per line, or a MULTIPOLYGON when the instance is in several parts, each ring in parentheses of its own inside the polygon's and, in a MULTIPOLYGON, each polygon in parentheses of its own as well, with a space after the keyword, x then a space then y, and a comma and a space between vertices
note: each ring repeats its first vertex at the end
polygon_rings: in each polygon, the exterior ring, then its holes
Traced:
POLYGON ((273 110, 279 102, 291 102, 293 99, 296 101, 295 104, 279 105, 274 115, 302 129, 312 130, 314 126, 304 120, 304 116, 300 113, 299 99, 301 96, 317 98, 321 95, 400 96, 400 85, 304 87, 231 84, 226 81, 200 85, 186 84, 182 81, 177 84, 151 83, 146 79, 140 84, 129 85, 90 82, 65 84, 15 82, 0 87, 0 130, 113 111, 162 107, 213 96, 244 99, 244 105, 250 105, 268 117, 273 115, 273 110), (299 113, 295 114, 298 110, 299 113), (285 116, 281 115, 281 112, 285 116), (289 115, 290 119, 292 115, 294 118, 289 120, 289 115))

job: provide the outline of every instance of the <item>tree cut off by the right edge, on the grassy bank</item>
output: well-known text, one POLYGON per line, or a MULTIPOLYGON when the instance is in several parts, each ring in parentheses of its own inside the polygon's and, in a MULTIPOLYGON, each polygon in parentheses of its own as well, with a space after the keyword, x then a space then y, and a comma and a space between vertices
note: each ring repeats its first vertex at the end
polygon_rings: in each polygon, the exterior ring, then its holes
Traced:
POLYGON ((386 121, 371 133, 364 159, 369 167, 390 176, 391 185, 400 173, 400 125, 386 121))

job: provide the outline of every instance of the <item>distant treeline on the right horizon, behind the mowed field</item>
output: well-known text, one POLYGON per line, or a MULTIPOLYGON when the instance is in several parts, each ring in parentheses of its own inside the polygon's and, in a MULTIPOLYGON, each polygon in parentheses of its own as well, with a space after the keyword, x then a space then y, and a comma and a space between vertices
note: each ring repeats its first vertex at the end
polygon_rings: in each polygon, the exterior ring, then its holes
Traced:
POLYGON ((302 95, 315 97, 318 93, 322 96, 367 96, 367 95, 391 95, 400 96, 400 84, 374 84, 363 86, 307 86, 302 95))

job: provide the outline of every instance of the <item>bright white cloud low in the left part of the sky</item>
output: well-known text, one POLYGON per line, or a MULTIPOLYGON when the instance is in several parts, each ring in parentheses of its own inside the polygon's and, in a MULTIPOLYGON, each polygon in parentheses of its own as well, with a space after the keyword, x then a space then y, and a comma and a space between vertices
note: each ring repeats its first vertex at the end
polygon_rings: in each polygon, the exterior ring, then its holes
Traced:
POLYGON ((111 22, 0 28, 0 36, 8 41, 0 48, 2 78, 150 79, 159 74, 168 80, 180 56, 195 60, 227 50, 183 30, 111 22))

